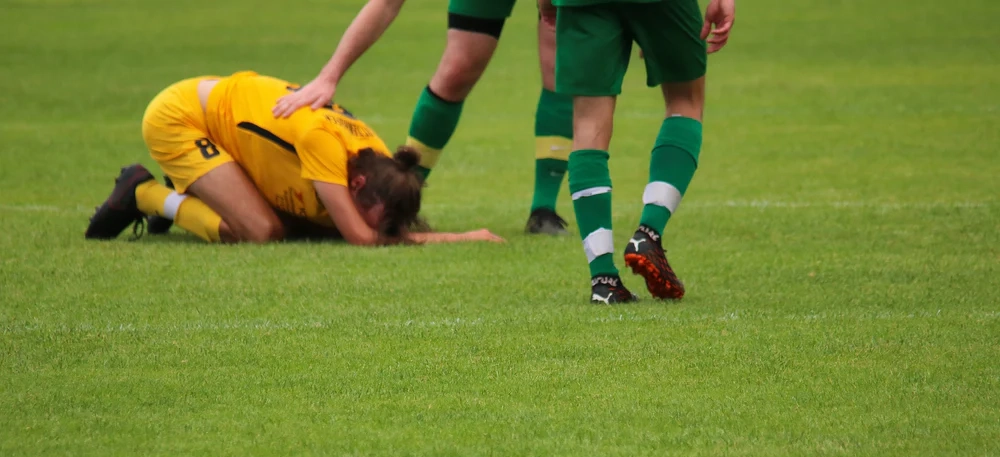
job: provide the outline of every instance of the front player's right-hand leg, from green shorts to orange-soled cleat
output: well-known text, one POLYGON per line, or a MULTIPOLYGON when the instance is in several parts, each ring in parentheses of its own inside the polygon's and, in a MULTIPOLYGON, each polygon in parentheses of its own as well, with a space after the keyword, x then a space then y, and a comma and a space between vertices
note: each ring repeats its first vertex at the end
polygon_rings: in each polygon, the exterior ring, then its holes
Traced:
POLYGON ((630 5, 629 25, 646 55, 646 83, 662 84, 667 114, 650 157, 639 228, 625 249, 625 263, 658 298, 684 296, 662 246, 667 221, 698 167, 705 103, 705 43, 696 0, 630 5), (671 24, 663 27, 662 24, 671 24))

